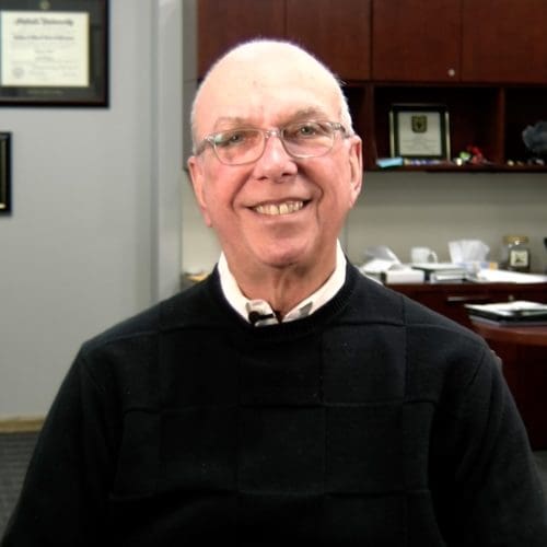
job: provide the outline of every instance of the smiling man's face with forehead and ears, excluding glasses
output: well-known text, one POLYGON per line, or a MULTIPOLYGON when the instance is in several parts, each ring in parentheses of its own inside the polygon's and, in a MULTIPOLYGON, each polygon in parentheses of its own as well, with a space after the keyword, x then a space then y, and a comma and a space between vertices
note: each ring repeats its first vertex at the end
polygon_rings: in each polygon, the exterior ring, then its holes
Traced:
MULTIPOLYGON (((334 82, 315 66, 279 53, 228 61, 202 90, 199 139, 236 127, 282 128, 293 121, 340 121, 334 82)), ((304 269, 334 260, 336 240, 361 187, 361 142, 338 132, 330 152, 294 159, 270 137, 255 163, 224 165, 210 146, 190 158, 196 197, 230 265, 304 269)))

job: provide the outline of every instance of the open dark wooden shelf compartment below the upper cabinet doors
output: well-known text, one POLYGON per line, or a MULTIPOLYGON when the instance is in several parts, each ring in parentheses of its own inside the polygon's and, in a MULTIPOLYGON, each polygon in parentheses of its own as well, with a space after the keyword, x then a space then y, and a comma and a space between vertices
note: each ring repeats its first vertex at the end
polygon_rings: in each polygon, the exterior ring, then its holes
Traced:
POLYGON ((528 125, 547 119, 547 84, 516 86, 490 84, 401 84, 350 82, 345 88, 354 130, 364 143, 366 171, 384 171, 379 158, 389 158, 389 110, 397 103, 444 104, 450 116, 451 154, 478 147, 489 163, 406 165, 391 171, 542 173, 522 140, 528 125), (513 162, 513 165, 508 162, 513 162))

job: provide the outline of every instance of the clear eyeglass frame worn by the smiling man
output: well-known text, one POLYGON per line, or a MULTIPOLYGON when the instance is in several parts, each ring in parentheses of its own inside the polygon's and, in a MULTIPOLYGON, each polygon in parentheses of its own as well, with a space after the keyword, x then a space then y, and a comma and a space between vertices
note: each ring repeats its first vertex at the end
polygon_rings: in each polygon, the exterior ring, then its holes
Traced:
POLYGON ((330 129, 333 130, 330 148, 328 148, 327 150, 325 150, 324 152, 322 152, 321 154, 317 154, 317 155, 295 155, 294 153, 292 153, 289 150, 287 150, 287 143, 284 141, 282 131, 284 131, 288 127, 290 127, 292 125, 298 125, 299 124, 298 121, 293 121, 291 124, 287 124, 283 127, 278 127, 278 128, 274 128, 274 129, 263 129, 260 127, 242 126, 242 127, 234 127, 233 129, 226 129, 224 131, 217 131, 214 133, 210 133, 207 137, 203 137, 203 139, 199 142, 199 144, 196 147, 194 155, 196 155, 196 156, 200 155, 202 152, 205 152, 207 144, 209 144, 212 148, 214 156, 217 158, 217 160, 219 160, 220 163, 222 163, 222 165, 229 165, 229 166, 234 166, 234 167, 238 166, 238 165, 248 165, 251 163, 257 162, 263 156, 264 152, 266 151, 266 144, 268 142, 268 139, 270 137, 275 136, 275 137, 277 137, 280 140, 281 146, 283 147, 283 150, 291 158, 294 158, 295 160, 307 160, 307 159, 311 159, 311 158, 322 158, 323 155, 328 154, 333 150, 333 148, 335 146, 336 132, 337 131, 340 131, 340 133, 342 135, 342 138, 345 138, 345 139, 347 139, 348 137, 351 137, 351 133, 339 121, 329 121, 329 120, 323 120, 323 119, 309 119, 309 120, 302 121, 302 124, 305 124, 305 123, 310 123, 310 124, 312 124, 312 123, 313 124, 326 124, 326 125, 328 125, 330 127, 330 129), (223 162, 220 159, 220 156, 219 156, 219 154, 217 152, 216 138, 218 138, 220 135, 225 133, 225 132, 243 131, 243 130, 259 131, 264 136, 263 151, 260 152, 260 154, 255 160, 252 160, 252 161, 246 161, 246 162, 242 162, 242 163, 226 163, 226 162, 223 162))

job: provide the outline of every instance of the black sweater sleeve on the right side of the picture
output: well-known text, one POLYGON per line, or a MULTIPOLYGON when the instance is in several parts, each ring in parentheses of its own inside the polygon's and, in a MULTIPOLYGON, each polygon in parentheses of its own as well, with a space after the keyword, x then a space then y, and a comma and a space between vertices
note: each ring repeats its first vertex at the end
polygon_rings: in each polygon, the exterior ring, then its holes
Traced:
POLYGON ((452 538, 447 545, 546 546, 547 508, 534 455, 488 349, 463 393, 455 410, 441 412, 441 441, 432 450, 433 496, 452 538))

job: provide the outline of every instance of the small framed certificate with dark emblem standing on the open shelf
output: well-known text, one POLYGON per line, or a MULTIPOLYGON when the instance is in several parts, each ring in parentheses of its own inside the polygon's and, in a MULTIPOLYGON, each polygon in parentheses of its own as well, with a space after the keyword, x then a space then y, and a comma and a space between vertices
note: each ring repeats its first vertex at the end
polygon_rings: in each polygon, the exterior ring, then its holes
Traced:
POLYGON ((392 105, 389 139, 392 158, 450 160, 450 119, 446 105, 392 105))

